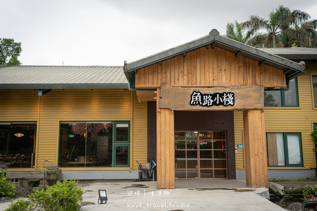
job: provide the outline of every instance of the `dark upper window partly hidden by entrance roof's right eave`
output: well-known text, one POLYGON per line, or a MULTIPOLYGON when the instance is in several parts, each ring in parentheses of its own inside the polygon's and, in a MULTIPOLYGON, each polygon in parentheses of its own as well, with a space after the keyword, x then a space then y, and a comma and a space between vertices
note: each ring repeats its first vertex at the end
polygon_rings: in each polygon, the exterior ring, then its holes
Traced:
POLYGON ((297 78, 289 81, 288 91, 264 91, 264 107, 298 107, 297 78))

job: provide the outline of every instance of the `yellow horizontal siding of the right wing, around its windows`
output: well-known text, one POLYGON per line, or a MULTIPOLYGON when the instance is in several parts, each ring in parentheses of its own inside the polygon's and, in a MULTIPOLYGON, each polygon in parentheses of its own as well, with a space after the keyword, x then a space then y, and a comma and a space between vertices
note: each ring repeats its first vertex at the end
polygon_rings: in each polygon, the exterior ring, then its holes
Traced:
MULTIPOLYGON (((317 64, 306 64, 306 73, 298 77, 299 103, 296 108, 265 108, 265 130, 272 132, 301 133, 304 168, 315 168, 314 142, 310 133, 312 122, 317 123, 317 112, 313 109, 313 93, 311 89, 311 73, 317 75, 317 64)), ((234 111, 235 146, 243 143, 243 115, 241 111, 234 111)), ((244 169, 243 150, 236 154, 236 168, 244 169)), ((269 167, 271 168, 271 167, 269 167)), ((284 167, 277 167, 277 169, 284 167)), ((287 167, 290 168, 290 167, 287 167)), ((303 167, 301 167, 303 169, 303 167)), ((276 169, 276 168, 275 168, 276 169)), ((300 169, 300 168, 299 168, 300 169)))

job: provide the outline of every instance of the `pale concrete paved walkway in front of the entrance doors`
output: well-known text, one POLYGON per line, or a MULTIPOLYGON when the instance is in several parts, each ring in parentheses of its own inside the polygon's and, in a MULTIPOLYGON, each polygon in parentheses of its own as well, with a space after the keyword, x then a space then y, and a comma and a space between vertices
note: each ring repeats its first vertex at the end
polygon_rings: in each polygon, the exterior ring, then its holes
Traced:
MULTIPOLYGON (((83 206, 82 210, 284 210, 257 194, 267 189, 248 188, 243 180, 176 180, 176 189, 156 187, 153 181, 88 183, 83 187, 87 191, 83 200, 95 204, 83 206), (98 189, 106 189, 106 204, 97 204, 98 189)), ((9 204, 1 203, 0 210, 9 204)))

